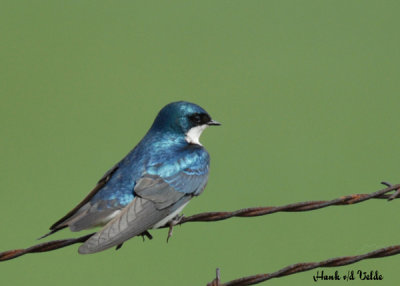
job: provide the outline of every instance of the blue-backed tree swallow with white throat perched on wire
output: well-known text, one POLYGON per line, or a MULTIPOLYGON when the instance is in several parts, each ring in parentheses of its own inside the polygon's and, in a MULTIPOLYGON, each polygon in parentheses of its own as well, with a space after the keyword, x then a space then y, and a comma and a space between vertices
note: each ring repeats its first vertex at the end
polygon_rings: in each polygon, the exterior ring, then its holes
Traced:
POLYGON ((210 157, 199 138, 212 125, 220 123, 196 104, 166 105, 139 144, 43 237, 103 226, 80 246, 87 254, 167 225, 207 184, 210 157))

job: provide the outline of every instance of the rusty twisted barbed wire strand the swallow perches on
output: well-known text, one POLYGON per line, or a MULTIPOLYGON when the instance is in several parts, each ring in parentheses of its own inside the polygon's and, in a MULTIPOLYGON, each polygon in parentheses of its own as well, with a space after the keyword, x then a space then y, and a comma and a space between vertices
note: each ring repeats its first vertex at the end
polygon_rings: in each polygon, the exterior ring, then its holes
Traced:
MULTIPOLYGON (((168 233, 168 238, 172 235, 172 227, 174 225, 182 225, 188 222, 211 222, 211 221, 220 221, 229 219, 232 217, 255 217, 255 216, 263 216, 276 212, 303 212, 303 211, 311 211, 316 209, 321 209, 329 206, 339 206, 339 205, 353 205, 357 203, 364 202, 369 199, 387 199, 392 200, 398 198, 400 194, 400 184, 391 185, 386 182, 382 182, 382 184, 386 185, 387 188, 370 193, 370 194, 352 194, 348 196, 342 196, 337 199, 329 200, 329 201, 306 201, 299 202, 294 204, 288 204, 284 206, 269 206, 269 207, 254 207, 254 208, 245 208, 232 212, 205 212, 196 215, 192 215, 189 217, 180 217, 179 220, 174 222, 173 225, 166 225, 164 227, 169 227, 170 231, 168 233), (393 194, 388 195, 387 193, 395 191, 393 194)), ((70 238, 70 239, 62 239, 62 240, 53 240, 49 242, 44 242, 40 244, 36 244, 29 248, 25 249, 14 249, 8 250, 4 252, 0 252, 0 262, 5 260, 10 260, 17 258, 19 256, 28 254, 28 253, 37 253, 37 252, 47 252, 56 250, 59 248, 63 248, 75 243, 83 243, 88 240, 94 233, 87 234, 78 238, 70 238)), ((167 238, 167 239, 168 239, 167 238)), ((246 284, 247 285, 247 284, 246 284)), ((249 284, 250 285, 250 284, 249 284)))

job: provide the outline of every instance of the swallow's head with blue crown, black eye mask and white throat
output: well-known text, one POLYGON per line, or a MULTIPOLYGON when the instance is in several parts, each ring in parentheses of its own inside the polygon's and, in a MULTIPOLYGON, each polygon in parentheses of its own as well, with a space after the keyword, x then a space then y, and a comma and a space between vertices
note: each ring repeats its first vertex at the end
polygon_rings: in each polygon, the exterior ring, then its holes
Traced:
POLYGON ((199 138, 206 127, 221 125, 197 104, 178 101, 163 107, 150 130, 184 136, 188 143, 200 144, 199 138))

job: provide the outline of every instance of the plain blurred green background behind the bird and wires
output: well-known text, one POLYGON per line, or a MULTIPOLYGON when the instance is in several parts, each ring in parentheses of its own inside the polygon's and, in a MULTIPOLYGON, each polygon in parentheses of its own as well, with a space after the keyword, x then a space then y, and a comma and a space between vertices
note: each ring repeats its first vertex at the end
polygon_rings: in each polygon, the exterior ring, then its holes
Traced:
MULTIPOLYGON (((399 1, 0 6, 1 251, 37 243, 176 100, 223 123, 202 136, 211 176, 186 215, 399 183, 399 1)), ((117 252, 83 256, 72 246, 1 263, 0 277, 7 285, 205 285, 220 267, 226 282, 399 244, 399 203, 185 224, 168 244, 164 229, 117 252)), ((325 272, 378 270, 379 285, 393 285, 399 263, 325 272)), ((311 285, 315 274, 264 284, 311 285)))

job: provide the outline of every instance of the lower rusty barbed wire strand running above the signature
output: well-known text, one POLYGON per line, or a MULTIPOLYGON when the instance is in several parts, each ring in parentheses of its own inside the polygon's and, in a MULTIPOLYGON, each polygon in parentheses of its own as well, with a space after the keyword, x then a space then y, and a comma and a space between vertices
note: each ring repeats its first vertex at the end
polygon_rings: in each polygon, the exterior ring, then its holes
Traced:
MULTIPOLYGON (((247 286, 258 284, 272 278, 278 278, 283 276, 288 276, 292 274, 296 274, 299 272, 308 271, 315 268, 320 267, 338 267, 356 263, 358 261, 370 258, 381 258, 392 256, 400 253, 400 245, 394 245, 389 247, 380 248, 366 254, 356 255, 356 256, 344 256, 344 257, 336 257, 327 259, 320 262, 305 262, 305 263, 296 263, 289 266, 286 266, 276 272, 266 273, 266 274, 257 274, 252 276, 247 276, 239 279, 235 279, 226 283, 221 283, 220 281, 220 269, 217 268, 217 277, 207 286, 247 286)), ((344 279, 343 277, 341 277, 344 279)), ((318 278, 317 278, 318 279, 318 278)))

